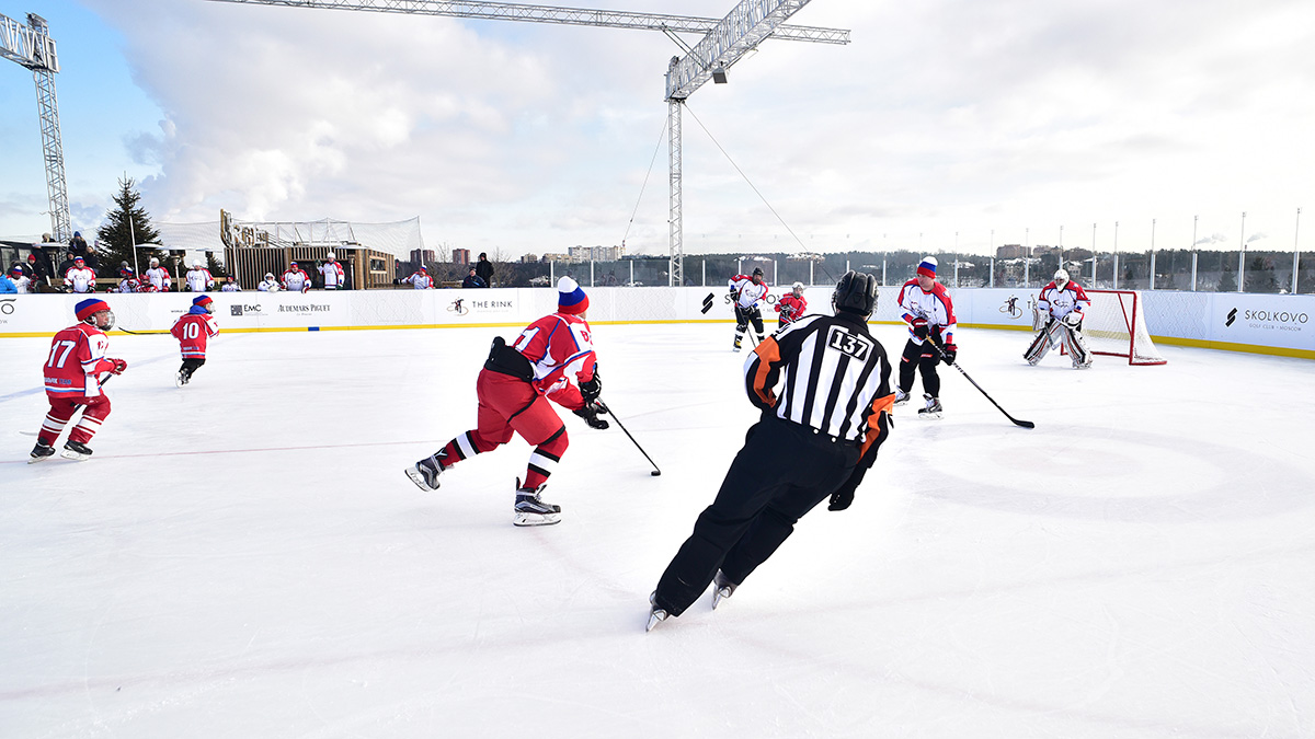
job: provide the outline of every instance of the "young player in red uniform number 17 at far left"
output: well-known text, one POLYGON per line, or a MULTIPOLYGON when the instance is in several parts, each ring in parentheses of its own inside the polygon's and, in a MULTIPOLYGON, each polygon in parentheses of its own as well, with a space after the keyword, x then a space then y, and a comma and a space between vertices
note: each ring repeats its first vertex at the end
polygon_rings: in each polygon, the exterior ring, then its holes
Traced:
POLYGON ((28 463, 41 462, 55 454, 55 441, 79 408, 82 419, 68 434, 62 456, 82 460, 91 456, 87 442, 109 416, 109 398, 100 389, 100 375, 121 375, 128 370, 122 359, 105 356, 109 339, 105 331, 114 326, 114 313, 104 300, 88 298, 78 304, 78 323, 55 334, 46 358, 46 397, 50 412, 37 434, 28 463))

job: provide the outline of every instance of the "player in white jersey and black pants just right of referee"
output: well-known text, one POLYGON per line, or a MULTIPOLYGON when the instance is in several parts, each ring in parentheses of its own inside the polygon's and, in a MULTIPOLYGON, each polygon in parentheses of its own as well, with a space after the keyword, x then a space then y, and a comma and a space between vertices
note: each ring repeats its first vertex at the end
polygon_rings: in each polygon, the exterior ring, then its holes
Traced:
POLYGON ((918 274, 899 288, 899 310, 909 323, 909 342, 899 358, 896 405, 909 400, 914 373, 922 372, 922 397, 927 404, 918 413, 939 418, 940 375, 936 373, 936 363, 944 360, 953 364, 959 347, 955 346, 955 304, 945 285, 936 281, 935 256, 923 256, 918 274))

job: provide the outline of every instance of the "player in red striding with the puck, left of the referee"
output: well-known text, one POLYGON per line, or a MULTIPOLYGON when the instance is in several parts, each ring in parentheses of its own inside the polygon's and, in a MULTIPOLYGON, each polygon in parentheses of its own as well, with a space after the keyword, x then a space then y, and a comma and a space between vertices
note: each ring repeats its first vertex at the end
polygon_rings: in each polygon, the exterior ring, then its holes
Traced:
POLYGON ((585 321, 589 298, 571 277, 558 281, 558 312, 526 326, 514 346, 493 339, 489 358, 475 383, 477 426, 447 442, 442 450, 416 463, 406 475, 423 490, 437 490, 438 477, 458 462, 492 451, 512 441, 513 431, 534 446, 525 480, 515 480, 517 526, 544 526, 560 521, 562 506, 540 494, 554 467, 567 451, 567 427, 548 400, 572 410, 593 429, 606 429, 598 418, 602 383, 593 339, 585 321), (579 383, 579 384, 577 384, 579 383))

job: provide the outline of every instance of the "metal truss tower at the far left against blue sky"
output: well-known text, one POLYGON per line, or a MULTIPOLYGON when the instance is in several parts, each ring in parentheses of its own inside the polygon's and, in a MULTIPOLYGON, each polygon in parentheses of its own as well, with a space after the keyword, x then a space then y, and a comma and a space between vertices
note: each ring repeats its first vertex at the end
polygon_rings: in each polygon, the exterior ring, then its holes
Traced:
POLYGON ((72 237, 68 214, 68 183, 64 180, 64 147, 59 141, 59 104, 55 100, 55 72, 59 57, 50 38, 46 18, 28 13, 28 25, 0 14, 0 57, 32 70, 37 80, 37 109, 41 113, 41 143, 46 154, 46 191, 50 195, 50 226, 54 239, 72 237))

